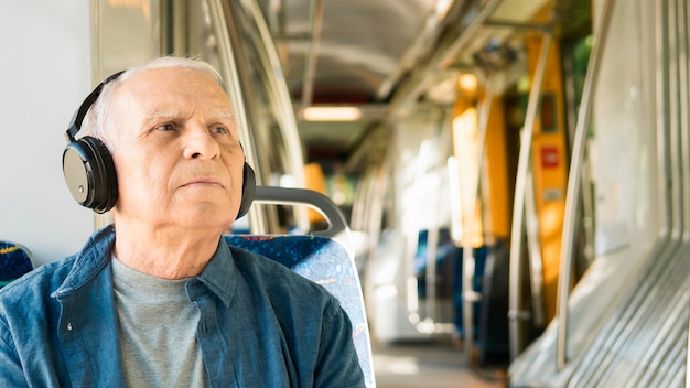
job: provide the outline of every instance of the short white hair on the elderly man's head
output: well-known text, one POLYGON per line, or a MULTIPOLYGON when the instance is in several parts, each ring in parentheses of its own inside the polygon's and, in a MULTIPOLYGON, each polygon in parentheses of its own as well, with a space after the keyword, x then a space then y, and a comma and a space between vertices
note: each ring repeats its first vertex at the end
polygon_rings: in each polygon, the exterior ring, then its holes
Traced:
POLYGON ((197 60, 179 56, 162 56, 138 66, 130 67, 115 79, 107 82, 103 86, 100 95, 88 110, 85 117, 83 129, 85 133, 97 139, 100 139, 109 150, 114 150, 116 142, 114 139, 114 128, 118 118, 108 118, 108 105, 112 90, 120 84, 127 82, 129 78, 136 76, 139 73, 154 68, 186 68, 203 73, 213 78, 220 87, 223 87, 223 78, 220 74, 208 63, 197 60))

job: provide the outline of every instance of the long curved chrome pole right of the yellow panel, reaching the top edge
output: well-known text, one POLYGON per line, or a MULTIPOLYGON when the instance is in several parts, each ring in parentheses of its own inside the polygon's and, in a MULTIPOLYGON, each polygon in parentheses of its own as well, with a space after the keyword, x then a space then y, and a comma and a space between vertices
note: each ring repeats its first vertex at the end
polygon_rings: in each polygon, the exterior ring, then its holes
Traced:
POLYGON ((606 42, 611 15, 613 14, 614 0, 605 1, 602 18, 600 20, 599 39, 590 55, 587 73, 584 78, 578 125, 574 133, 574 144, 568 174, 568 191, 565 197, 565 216, 563 218, 563 238, 561 240, 561 263, 559 269, 557 316, 558 334, 556 343, 556 367, 562 370, 567 363, 567 334, 568 334, 568 299, 570 294, 570 276, 572 273, 572 254, 574 246, 575 222, 580 201, 580 185, 582 183, 582 161, 586 144, 586 133, 592 115, 592 95, 596 86, 601 58, 606 42))

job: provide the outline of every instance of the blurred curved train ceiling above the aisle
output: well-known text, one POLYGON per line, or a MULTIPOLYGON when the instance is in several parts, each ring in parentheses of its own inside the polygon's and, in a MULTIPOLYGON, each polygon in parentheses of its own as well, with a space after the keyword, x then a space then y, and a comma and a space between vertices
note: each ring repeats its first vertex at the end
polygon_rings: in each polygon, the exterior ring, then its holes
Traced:
MULTIPOLYGON (((261 0, 311 158, 348 160, 367 136, 420 99, 448 104, 454 91, 438 85, 459 69, 476 67, 483 51, 509 44, 516 31, 582 24, 589 1, 561 0, 261 0), (547 10, 547 12, 545 12, 547 10), (548 21, 548 18, 546 18, 548 21), (492 48, 493 47, 493 48, 492 48), (439 93, 438 90, 442 91, 439 93), (435 90, 434 94, 429 91, 435 90), (445 95, 445 96, 444 96, 445 95), (352 121, 308 121, 306 107, 357 107, 352 121)), ((488 53, 493 58, 495 53, 488 53)), ((505 57, 503 57, 505 61, 505 57)), ((500 63, 484 63, 497 65, 500 63)), ((385 137, 384 137, 385 138, 385 137)), ((352 162, 352 161, 351 161, 352 162)))

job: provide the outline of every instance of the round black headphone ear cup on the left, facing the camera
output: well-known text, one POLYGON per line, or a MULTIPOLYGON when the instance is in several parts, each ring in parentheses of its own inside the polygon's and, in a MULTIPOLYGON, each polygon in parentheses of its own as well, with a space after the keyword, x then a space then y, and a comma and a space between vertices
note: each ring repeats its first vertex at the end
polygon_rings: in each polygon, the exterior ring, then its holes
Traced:
POLYGON ((96 213, 106 213, 118 197, 112 157, 100 140, 86 136, 63 152, 63 174, 76 202, 96 213))

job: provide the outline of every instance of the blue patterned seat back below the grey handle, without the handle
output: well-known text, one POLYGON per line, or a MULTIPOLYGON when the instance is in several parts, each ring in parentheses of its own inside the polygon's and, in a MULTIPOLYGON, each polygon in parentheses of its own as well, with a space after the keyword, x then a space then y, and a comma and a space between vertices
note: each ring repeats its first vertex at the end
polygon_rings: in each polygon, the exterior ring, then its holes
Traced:
POLYGON ((321 236, 225 236, 228 245, 268 257, 323 285, 341 301, 353 325, 353 340, 367 387, 374 387, 369 328, 355 262, 337 241, 321 236))

